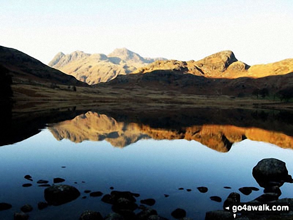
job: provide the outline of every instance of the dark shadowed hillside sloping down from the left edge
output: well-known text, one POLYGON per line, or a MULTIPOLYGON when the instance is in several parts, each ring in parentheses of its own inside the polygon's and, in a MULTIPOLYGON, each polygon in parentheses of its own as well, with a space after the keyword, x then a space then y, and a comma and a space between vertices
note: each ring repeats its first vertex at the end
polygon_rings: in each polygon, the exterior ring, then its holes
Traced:
MULTIPOLYGON (((87 86, 75 77, 53 69, 37 59, 13 48, 0 46, 0 66, 7 69, 13 83, 56 83, 87 86)), ((2 72, 0 73, 2 74, 2 72)))

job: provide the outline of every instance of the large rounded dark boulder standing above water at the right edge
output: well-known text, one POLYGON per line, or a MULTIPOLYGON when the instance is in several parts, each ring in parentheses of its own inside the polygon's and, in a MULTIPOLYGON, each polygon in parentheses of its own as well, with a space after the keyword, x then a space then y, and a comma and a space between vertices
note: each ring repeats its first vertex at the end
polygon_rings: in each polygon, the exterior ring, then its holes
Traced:
POLYGON ((293 183, 293 179, 288 175, 286 163, 275 158, 261 160, 252 172, 258 184, 263 187, 271 187, 270 182, 284 184, 284 182, 293 183))

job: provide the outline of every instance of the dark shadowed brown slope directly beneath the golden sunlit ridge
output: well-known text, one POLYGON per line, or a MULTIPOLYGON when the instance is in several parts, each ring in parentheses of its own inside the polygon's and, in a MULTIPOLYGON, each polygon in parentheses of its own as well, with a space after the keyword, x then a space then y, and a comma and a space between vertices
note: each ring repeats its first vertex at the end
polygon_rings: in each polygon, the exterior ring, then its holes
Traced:
POLYGON ((97 88, 148 88, 154 91, 173 91, 197 95, 252 95, 255 89, 267 88, 271 94, 281 89, 293 88, 293 73, 262 78, 239 77, 207 78, 178 70, 154 70, 148 73, 118 76, 97 88))

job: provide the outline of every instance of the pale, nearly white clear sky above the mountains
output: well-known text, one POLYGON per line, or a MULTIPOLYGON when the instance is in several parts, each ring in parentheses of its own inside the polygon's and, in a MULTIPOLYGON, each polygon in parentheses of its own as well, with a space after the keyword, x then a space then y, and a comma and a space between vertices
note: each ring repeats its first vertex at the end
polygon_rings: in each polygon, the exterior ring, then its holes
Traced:
POLYGON ((292 0, 1 0, 0 45, 56 53, 199 60, 232 50, 249 65, 293 58, 292 0))

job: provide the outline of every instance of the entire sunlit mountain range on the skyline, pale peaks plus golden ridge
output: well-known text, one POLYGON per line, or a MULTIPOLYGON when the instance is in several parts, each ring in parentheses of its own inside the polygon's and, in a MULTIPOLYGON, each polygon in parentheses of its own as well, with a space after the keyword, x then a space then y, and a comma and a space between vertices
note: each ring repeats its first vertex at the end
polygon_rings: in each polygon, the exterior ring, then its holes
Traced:
POLYGON ((126 48, 115 49, 107 56, 81 51, 67 55, 60 52, 48 65, 88 84, 108 82, 118 75, 148 73, 154 70, 176 70, 206 78, 228 79, 260 78, 293 72, 293 59, 250 66, 239 61, 230 50, 212 54, 199 61, 143 58, 126 48))

